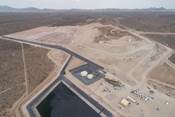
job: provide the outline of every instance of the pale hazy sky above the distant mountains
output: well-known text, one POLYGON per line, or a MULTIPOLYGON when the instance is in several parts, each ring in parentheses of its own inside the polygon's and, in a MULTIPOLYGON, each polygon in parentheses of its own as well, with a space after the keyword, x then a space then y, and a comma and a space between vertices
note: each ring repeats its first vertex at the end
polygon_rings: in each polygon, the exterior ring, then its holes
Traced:
POLYGON ((0 0, 0 5, 54 9, 149 8, 175 9, 175 0, 0 0))

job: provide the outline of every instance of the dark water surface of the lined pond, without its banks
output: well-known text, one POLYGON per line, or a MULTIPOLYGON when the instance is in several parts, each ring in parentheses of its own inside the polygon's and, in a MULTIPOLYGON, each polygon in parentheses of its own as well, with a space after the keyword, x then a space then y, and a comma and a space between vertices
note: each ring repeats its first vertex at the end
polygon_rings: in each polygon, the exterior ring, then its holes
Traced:
POLYGON ((41 117, 100 117, 100 115, 60 83, 38 106, 41 117))

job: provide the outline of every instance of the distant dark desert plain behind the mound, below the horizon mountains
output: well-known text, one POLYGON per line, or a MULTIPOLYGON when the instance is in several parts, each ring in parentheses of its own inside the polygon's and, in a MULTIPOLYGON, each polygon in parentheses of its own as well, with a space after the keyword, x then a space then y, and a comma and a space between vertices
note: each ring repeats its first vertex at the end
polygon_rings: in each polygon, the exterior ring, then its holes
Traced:
POLYGON ((106 11, 57 11, 29 13, 1 13, 0 35, 31 29, 38 26, 65 26, 101 22, 127 26, 140 31, 175 32, 175 13, 106 11))

